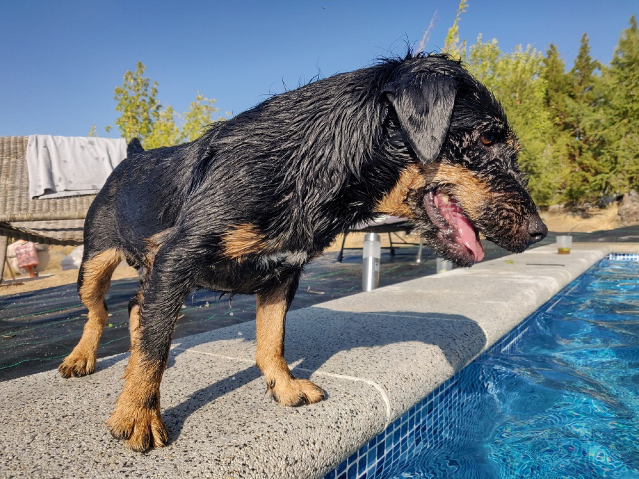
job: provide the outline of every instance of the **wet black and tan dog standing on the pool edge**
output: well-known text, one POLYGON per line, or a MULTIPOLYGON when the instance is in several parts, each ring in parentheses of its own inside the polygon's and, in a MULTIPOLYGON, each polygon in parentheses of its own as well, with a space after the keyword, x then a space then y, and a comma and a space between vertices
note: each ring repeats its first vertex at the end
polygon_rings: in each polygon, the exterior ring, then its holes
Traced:
POLYGON ((111 273, 141 273, 131 356, 111 434, 146 451, 167 442, 159 386, 193 287, 257 294, 257 354, 285 406, 324 392, 291 375, 284 316, 304 265, 376 215, 412 218, 438 254, 483 257, 479 232, 521 252, 546 227, 517 167, 518 142, 488 89, 447 56, 389 59, 273 96, 194 142, 139 151, 89 209, 79 293, 82 338, 59 367, 95 370, 111 273))

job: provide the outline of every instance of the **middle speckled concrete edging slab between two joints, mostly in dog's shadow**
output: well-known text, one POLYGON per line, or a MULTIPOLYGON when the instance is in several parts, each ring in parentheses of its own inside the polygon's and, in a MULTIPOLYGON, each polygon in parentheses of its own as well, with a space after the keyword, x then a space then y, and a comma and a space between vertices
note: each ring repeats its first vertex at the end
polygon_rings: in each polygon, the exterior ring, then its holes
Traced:
MULTIPOLYGON (((380 308, 381 309, 381 308, 380 308)), ((406 309, 406 307, 404 307, 406 309)), ((401 416, 438 384, 461 369, 485 344, 483 331, 462 316, 431 319, 416 312, 396 316, 306 308, 286 322, 286 361, 314 372, 314 381, 332 400, 325 377, 371 384, 387 404, 383 422, 401 416)), ((185 338, 176 349, 254 361, 254 324, 240 324, 185 338), (230 328, 227 328, 229 330, 230 328), (241 334, 241 336, 240 336, 241 334)), ((300 374, 301 375, 301 374, 300 374)))

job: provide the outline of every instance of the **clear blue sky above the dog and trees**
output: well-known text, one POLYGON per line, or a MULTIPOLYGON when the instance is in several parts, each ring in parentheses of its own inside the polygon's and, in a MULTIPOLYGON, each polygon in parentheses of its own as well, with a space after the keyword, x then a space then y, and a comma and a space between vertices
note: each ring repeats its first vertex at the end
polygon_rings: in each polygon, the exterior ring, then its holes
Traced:
MULTIPOLYGON (((581 34, 612 59, 637 0, 469 0, 460 36, 502 50, 555 43, 570 68, 581 34)), ((458 0, 4 1, 0 6, 0 135, 101 136, 117 116, 113 89, 137 61, 158 98, 181 112, 196 91, 237 114, 318 72, 403 54, 437 12, 426 50, 443 47, 458 0)))

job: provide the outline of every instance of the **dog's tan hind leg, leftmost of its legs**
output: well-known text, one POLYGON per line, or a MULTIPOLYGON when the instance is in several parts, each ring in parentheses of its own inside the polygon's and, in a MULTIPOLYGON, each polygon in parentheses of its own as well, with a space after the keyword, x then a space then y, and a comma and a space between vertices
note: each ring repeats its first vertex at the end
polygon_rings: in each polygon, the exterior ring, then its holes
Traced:
POLYGON ((104 297, 111 284, 111 275, 123 257, 120 250, 111 248, 82 261, 78 291, 89 310, 88 319, 80 342, 58 368, 61 376, 86 376, 95 371, 98 343, 108 316, 104 297))

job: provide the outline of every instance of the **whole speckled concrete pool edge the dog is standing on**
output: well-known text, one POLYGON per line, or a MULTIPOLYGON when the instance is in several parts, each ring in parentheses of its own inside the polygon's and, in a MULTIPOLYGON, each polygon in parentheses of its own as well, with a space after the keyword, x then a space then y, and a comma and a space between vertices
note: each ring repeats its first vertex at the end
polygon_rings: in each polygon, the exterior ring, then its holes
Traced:
POLYGON ((169 445, 147 454, 105 427, 128 354, 80 379, 4 381, 0 478, 321 477, 609 252, 639 245, 548 245, 291 312, 286 359, 328 396, 312 406, 265 395, 252 322, 176 340, 161 388, 169 445))

